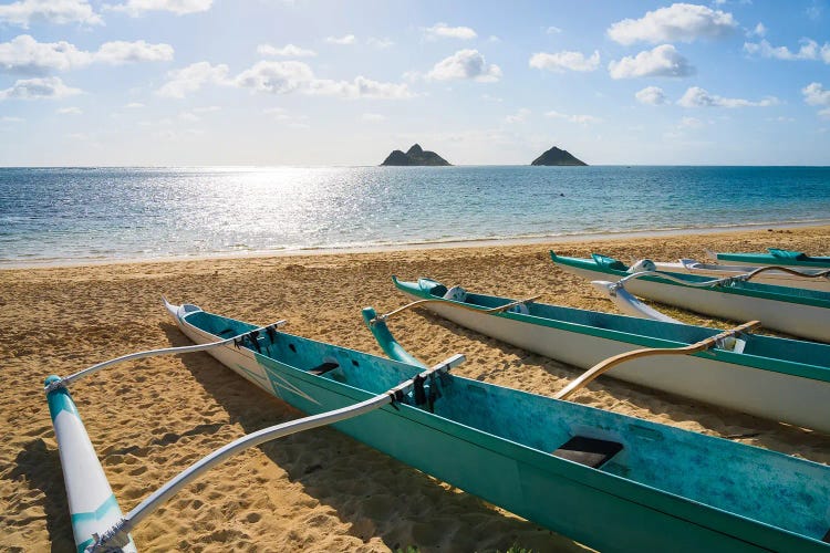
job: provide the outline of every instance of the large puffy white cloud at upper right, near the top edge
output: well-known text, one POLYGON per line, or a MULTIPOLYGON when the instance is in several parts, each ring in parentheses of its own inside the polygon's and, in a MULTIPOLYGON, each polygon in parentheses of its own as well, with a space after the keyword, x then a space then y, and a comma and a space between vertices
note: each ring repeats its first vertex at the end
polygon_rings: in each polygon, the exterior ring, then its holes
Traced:
POLYGON ((736 28, 737 21, 732 13, 705 6, 674 3, 647 11, 641 19, 619 21, 609 28, 608 35, 626 45, 635 42, 693 42, 726 36, 736 28))

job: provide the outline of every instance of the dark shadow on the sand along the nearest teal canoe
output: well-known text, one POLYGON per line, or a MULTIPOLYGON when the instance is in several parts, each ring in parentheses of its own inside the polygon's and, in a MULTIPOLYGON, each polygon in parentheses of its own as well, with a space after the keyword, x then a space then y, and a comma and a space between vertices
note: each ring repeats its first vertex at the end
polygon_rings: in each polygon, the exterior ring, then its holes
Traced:
MULTIPOLYGON (((172 344, 189 344, 176 326, 165 323, 162 330, 172 344)), ((303 416, 205 353, 181 361, 246 432, 303 416)), ((333 508, 341 521, 351 524, 350 534, 364 542, 378 536, 393 551, 408 545, 421 551, 471 551, 480 550, 483 542, 487 550, 506 551, 518 544, 535 551, 584 551, 549 530, 504 515, 474 495, 447 489, 331 428, 292 435, 260 449, 305 493, 333 508), (370 479, 369 488, 361 484, 370 479), (382 497, 367 492, 378 489, 382 497)))

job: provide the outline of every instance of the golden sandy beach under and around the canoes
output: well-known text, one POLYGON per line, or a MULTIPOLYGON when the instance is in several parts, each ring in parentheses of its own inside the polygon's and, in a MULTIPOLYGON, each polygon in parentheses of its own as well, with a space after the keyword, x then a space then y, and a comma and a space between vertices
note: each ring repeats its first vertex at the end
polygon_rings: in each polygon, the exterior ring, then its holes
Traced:
MULTIPOLYGON (((556 269, 548 250, 578 257, 602 252, 629 262, 703 259, 705 248, 768 247, 828 254, 830 227, 2 270, 0 549, 73 550, 43 378, 135 351, 188 344, 160 295, 252 323, 287 319, 286 332, 380 355, 360 310, 372 305, 386 312, 406 302, 394 291, 392 274, 615 312, 590 283, 556 269)), ((730 325, 668 313, 695 324, 730 325)), ((409 311, 391 326, 426 363, 465 353, 468 361, 456 369, 464 376, 550 395, 579 374, 425 311, 409 311)), ((211 450, 301 416, 204 353, 120 365, 79 382, 72 394, 124 511, 211 450)), ((613 378, 598 379, 574 400, 830 462, 830 436, 613 378)), ((222 465, 133 536, 143 551, 583 549, 326 428, 222 465)))

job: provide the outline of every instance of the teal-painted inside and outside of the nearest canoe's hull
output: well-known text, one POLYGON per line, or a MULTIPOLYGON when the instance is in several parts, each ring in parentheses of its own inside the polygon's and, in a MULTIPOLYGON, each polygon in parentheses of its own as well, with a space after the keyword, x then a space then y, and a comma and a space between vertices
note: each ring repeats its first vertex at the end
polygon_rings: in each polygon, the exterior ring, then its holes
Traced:
MULTIPOLYGON (((210 326, 209 317, 187 321, 210 326)), ((284 400, 310 414, 367 399, 421 371, 283 333, 270 352, 255 353, 257 362, 290 385, 284 400), (339 368, 308 373, 322 359, 339 368)), ((603 551, 828 551, 818 541, 830 526, 828 467, 461 377, 429 384, 442 392, 435 414, 387 406, 335 427, 603 551), (574 435, 624 448, 601 469, 549 453, 574 435)))

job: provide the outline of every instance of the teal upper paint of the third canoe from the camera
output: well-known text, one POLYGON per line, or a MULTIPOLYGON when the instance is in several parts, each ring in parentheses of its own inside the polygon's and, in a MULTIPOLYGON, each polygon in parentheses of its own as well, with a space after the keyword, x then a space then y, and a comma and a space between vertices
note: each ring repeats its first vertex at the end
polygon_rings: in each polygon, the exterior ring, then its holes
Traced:
MULTIPOLYGON (((616 269, 609 269, 596 263, 592 259, 578 259, 567 258, 557 255, 554 252, 550 252, 550 258, 554 263, 561 263, 563 265, 573 267, 575 269, 583 269, 587 271, 596 271, 610 276, 612 280, 620 280, 623 276, 629 276, 630 273, 626 271, 620 271, 616 269)), ((668 271, 662 271, 666 274, 671 274, 673 278, 684 280, 686 282, 709 282, 713 279, 710 276, 704 276, 699 274, 688 273, 673 273, 668 271)), ((662 284, 670 284, 673 286, 682 286, 677 282, 673 282, 660 276, 642 276, 642 280, 651 282, 660 282, 662 284)), ((719 285, 701 290, 709 290, 715 293, 735 294, 738 296, 746 298, 759 298, 765 300, 774 300, 786 303, 797 303, 801 305, 811 305, 813 307, 830 309, 830 292, 822 292, 820 290, 807 290, 801 288, 787 288, 787 286, 775 286, 771 284, 757 284, 754 282, 733 282, 729 285, 719 285)), ((830 312, 829 312, 830 313, 830 312)))

